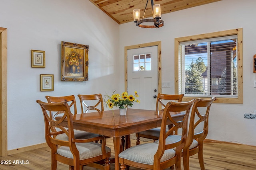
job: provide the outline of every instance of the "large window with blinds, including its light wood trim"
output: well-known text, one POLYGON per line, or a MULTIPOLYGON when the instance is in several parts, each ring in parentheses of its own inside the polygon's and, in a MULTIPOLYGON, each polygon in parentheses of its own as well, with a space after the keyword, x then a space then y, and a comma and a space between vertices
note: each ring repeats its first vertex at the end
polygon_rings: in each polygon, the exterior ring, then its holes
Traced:
POLYGON ((175 62, 176 94, 243 102, 242 29, 176 38, 175 62))

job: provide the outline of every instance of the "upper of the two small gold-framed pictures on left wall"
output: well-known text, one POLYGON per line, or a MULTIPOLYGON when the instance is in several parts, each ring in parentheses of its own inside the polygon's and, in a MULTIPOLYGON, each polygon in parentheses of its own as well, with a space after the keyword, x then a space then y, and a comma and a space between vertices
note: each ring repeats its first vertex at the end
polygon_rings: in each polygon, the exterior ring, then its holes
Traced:
POLYGON ((31 50, 31 67, 45 67, 45 51, 31 50))

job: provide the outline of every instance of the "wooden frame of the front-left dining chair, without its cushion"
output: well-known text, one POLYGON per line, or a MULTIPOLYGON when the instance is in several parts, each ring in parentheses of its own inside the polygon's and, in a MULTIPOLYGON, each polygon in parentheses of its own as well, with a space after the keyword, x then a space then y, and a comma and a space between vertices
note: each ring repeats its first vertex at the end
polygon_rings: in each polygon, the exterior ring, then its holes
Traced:
MULTIPOLYGON (((104 144, 102 144, 102 156, 100 159, 106 157, 106 150, 104 150, 106 145, 106 138, 103 136, 94 137, 90 139, 75 139, 74 138, 74 129, 73 129, 73 121, 72 121, 72 113, 70 111, 70 107, 66 102, 55 102, 55 103, 45 103, 40 100, 36 101, 42 108, 42 112, 44 115, 44 124, 45 124, 45 139, 48 146, 51 148, 52 156, 55 156, 57 153, 57 149, 59 146, 69 147, 71 153, 73 154, 73 164, 79 164, 80 162, 80 154, 79 150, 76 147, 76 143, 78 142, 94 142, 97 140, 102 140, 104 144), (58 115, 58 120, 52 119, 50 116, 50 112, 62 112, 63 114, 58 115), (64 122, 65 121, 65 122, 64 122), (64 127, 62 124, 67 125, 68 129, 64 127), (52 131, 51 129, 58 129, 58 131, 52 131), (68 141, 64 141, 61 139, 55 139, 54 136, 65 133, 68 136, 68 141)), ((93 151, 91 151, 93 152, 93 151)), ((62 156, 63 157, 63 156, 62 156)), ((68 157, 68 156, 67 156, 68 157)), ((68 164, 70 163, 70 158, 64 157, 61 158, 62 163, 68 164), (65 162, 63 162, 65 161, 65 162)), ((90 158, 88 158, 90 159, 90 158)), ((95 158, 92 158, 89 162, 95 161, 95 158)), ((53 162, 52 162, 53 164, 53 162)), ((77 166, 77 165, 76 165, 77 166)), ((79 166, 78 166, 79 167, 79 166)), ((79 169, 79 168, 77 168, 79 169)))

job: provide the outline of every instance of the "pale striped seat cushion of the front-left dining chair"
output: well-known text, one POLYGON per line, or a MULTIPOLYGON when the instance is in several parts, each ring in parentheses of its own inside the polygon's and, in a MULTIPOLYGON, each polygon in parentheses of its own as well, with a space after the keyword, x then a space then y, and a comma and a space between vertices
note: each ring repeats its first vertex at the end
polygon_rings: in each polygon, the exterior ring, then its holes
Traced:
MULTIPOLYGON (((79 151, 80 160, 93 158, 95 156, 102 155, 101 145, 94 142, 88 143, 76 143, 76 148, 79 151)), ((110 152, 111 149, 106 147, 106 152, 110 152)), ((73 158, 73 154, 69 147, 59 147, 57 149, 57 154, 67 158, 73 158)))

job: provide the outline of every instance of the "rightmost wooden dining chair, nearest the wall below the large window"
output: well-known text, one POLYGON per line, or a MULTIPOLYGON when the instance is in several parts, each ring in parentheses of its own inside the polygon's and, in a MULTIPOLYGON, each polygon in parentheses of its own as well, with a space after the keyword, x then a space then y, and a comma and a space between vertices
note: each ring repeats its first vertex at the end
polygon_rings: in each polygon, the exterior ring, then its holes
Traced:
POLYGON ((192 107, 188 137, 184 146, 182 157, 184 170, 189 170, 189 156, 198 153, 198 160, 201 170, 204 170, 203 142, 208 134, 209 112, 212 102, 211 99, 197 99, 192 107))

